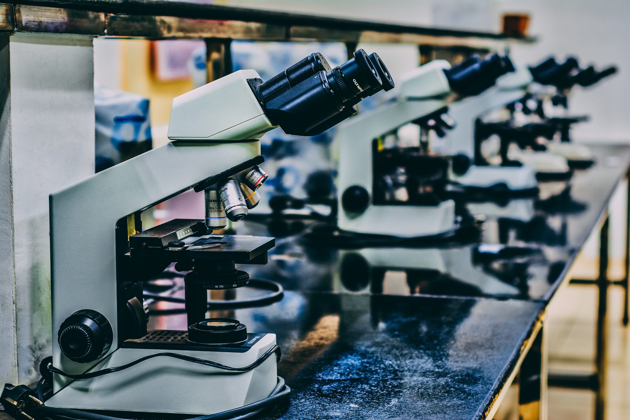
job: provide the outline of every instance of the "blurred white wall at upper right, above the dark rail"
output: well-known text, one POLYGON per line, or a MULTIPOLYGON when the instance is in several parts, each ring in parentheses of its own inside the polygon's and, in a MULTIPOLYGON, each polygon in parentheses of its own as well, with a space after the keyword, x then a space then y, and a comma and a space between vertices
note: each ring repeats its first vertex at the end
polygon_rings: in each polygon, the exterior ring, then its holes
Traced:
MULTIPOLYGON (((517 64, 536 64, 551 54, 576 55, 583 65, 616 64, 619 72, 590 89, 575 89, 571 112, 589 114, 576 140, 630 141, 630 2, 622 0, 224 0, 234 6, 324 14, 343 18, 408 23, 442 28, 500 31, 505 12, 531 16, 529 33, 539 42, 515 45, 517 64)), ((413 50, 410 50, 412 54, 413 50)), ((408 60, 401 59, 406 64, 408 60)), ((388 62, 389 63, 389 62, 388 62)), ((396 72, 392 64, 392 72, 396 72)))

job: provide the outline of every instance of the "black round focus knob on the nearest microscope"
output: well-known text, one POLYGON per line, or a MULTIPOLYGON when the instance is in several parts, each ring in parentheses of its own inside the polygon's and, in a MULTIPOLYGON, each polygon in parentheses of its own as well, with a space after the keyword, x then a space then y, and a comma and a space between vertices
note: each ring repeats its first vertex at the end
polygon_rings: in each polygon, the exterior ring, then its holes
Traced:
POLYGON ((79 363, 95 361, 112 347, 112 325, 96 310, 77 310, 62 322, 57 341, 70 360, 79 363))

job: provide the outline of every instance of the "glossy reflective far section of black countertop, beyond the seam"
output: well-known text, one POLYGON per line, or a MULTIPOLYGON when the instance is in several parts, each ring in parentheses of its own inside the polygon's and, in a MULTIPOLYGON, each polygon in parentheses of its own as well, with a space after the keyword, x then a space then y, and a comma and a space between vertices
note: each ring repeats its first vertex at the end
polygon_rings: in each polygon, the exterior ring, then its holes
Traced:
MULTIPOLYGON (((630 159, 626 147, 592 149, 593 167, 569 183, 543 184, 539 198, 466 202, 467 211, 483 220, 467 241, 347 241, 336 232, 312 235, 321 222, 301 220, 297 233, 284 229, 292 234, 277 238, 268 264, 249 273, 289 290, 548 300, 625 175, 621 161, 630 159), (619 157, 616 164, 610 156, 619 157)), ((270 236, 278 225, 296 225, 295 219, 270 220, 241 223, 238 232, 270 236)))

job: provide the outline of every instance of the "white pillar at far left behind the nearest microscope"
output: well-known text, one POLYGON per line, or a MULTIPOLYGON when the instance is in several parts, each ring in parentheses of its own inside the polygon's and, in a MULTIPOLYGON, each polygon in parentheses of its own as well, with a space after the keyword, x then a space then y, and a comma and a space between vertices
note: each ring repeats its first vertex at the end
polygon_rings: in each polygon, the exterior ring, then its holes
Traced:
POLYGON ((94 173, 93 79, 92 37, 0 35, 0 383, 52 354, 48 196, 94 173))

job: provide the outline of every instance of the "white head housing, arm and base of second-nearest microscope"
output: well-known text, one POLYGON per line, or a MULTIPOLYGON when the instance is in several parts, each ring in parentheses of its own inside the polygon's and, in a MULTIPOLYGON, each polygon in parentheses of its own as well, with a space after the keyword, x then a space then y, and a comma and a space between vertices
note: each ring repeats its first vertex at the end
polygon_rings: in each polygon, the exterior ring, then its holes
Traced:
POLYGON ((382 232, 392 236, 416 237, 444 234, 455 229, 455 203, 437 206, 375 205, 372 203, 374 166, 372 142, 383 133, 448 105, 452 91, 444 69, 446 60, 433 60, 404 77, 396 100, 377 110, 362 113, 337 128, 339 147, 338 202, 340 229, 364 234, 382 232), (348 188, 363 188, 369 196, 364 212, 343 208, 348 188))

